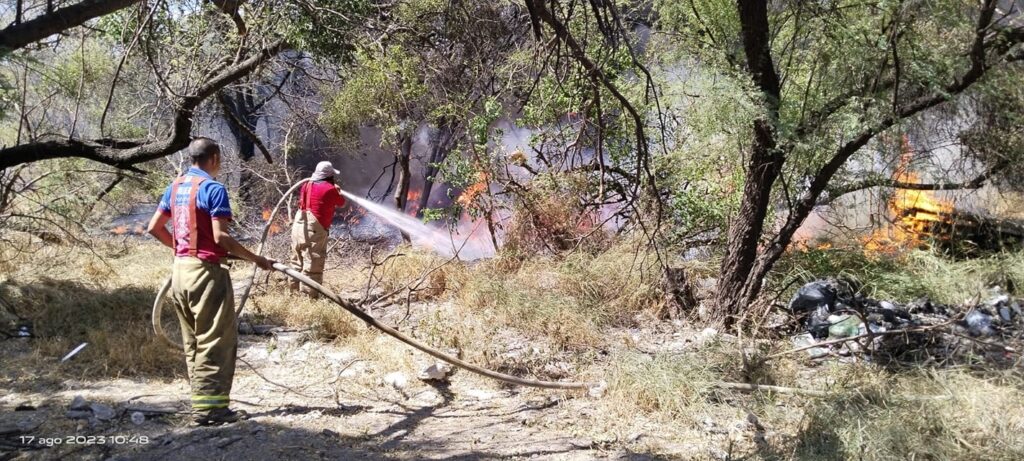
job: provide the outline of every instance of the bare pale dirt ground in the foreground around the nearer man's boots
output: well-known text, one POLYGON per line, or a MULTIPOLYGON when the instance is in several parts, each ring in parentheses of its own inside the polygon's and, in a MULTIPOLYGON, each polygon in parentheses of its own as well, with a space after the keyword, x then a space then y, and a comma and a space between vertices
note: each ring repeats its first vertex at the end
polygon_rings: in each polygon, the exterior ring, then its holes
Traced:
MULTIPOLYGON (((2 367, 2 387, 11 392, 0 395, 0 460, 642 460, 724 453, 658 439, 658 431, 643 427, 622 436, 596 433, 588 419, 599 400, 581 392, 507 387, 464 371, 428 383, 302 333, 242 338, 232 405, 250 418, 220 427, 188 425, 184 379, 65 380, 56 370, 2 367), (109 406, 114 416, 71 417, 76 396, 109 406)), ((31 340, 0 342, 2 357, 31 359, 31 340)), ((379 344, 425 363, 390 338, 379 344)))

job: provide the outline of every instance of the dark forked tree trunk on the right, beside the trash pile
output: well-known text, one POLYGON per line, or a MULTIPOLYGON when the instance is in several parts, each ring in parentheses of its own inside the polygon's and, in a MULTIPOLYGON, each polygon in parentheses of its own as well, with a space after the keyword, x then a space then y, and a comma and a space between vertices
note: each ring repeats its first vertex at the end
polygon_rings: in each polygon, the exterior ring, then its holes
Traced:
MULTIPOLYGON (((880 133, 895 126, 900 120, 946 102, 952 95, 961 94, 971 88, 981 80, 988 69, 993 67, 991 62, 993 55, 1004 62, 1017 60, 1018 55, 1009 51, 1013 46, 1024 42, 1024 34, 1008 36, 1011 38, 1008 42, 986 40, 995 14, 996 2, 990 0, 983 2, 975 28, 976 36, 971 46, 971 68, 940 90, 910 98, 902 103, 897 103, 894 98, 892 115, 868 125, 858 134, 846 139, 833 154, 831 159, 811 176, 810 182, 802 187, 796 202, 791 204, 790 213, 781 228, 768 241, 763 238, 764 219, 768 214, 768 207, 771 206, 771 191, 785 162, 784 152, 792 148, 793 141, 787 142, 786 148, 776 145, 774 125, 778 120, 778 100, 781 92, 769 45, 767 2, 737 0, 736 5, 748 72, 764 98, 762 103, 765 116, 754 122, 752 152, 743 185, 742 203, 739 214, 730 224, 727 253, 722 261, 715 313, 726 324, 734 321, 734 316, 757 298, 768 271, 792 243, 793 236, 812 212, 837 172, 857 151, 880 133)), ((896 78, 898 79, 898 76, 896 78)), ((829 111, 835 112, 848 102, 843 101, 829 111)), ((825 112, 826 117, 831 112, 825 112)))

